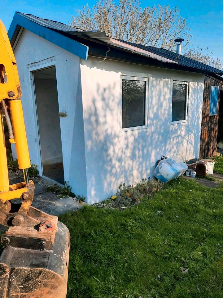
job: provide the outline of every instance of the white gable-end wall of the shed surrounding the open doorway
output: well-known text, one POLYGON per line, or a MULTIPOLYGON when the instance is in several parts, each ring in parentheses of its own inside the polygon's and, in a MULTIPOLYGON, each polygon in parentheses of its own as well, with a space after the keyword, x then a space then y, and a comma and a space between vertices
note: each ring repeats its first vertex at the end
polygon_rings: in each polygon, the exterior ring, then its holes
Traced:
POLYGON ((67 112, 66 118, 60 118, 64 179, 73 192, 87 196, 79 57, 25 29, 14 54, 23 93, 21 99, 31 162, 38 165, 42 174, 30 70, 56 65, 59 111, 67 112))

